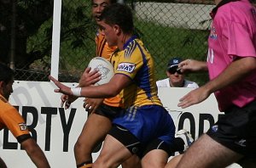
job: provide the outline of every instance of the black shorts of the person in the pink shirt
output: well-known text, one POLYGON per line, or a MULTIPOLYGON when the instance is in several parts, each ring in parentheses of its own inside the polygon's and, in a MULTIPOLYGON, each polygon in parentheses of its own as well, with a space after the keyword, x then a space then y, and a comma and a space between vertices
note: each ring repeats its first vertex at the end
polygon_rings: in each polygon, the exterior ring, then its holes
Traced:
POLYGON ((256 160, 256 101, 245 107, 232 106, 221 115, 207 135, 227 148, 256 160))

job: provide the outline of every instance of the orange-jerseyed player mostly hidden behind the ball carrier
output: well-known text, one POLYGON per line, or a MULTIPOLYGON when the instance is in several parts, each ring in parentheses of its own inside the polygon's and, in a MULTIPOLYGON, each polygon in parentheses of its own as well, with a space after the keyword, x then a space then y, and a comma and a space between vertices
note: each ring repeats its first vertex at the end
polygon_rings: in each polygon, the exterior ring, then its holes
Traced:
MULTIPOLYGON (((96 24, 100 21, 102 10, 108 5, 116 3, 116 0, 91 0, 92 15, 96 24)), ((96 56, 110 59, 116 46, 109 46, 101 29, 96 33, 96 56)), ((67 109, 75 100, 67 95, 61 96, 62 104, 67 109)), ((74 155, 78 168, 90 168, 92 166, 93 150, 102 143, 107 133, 112 127, 112 120, 118 115, 122 101, 119 95, 113 98, 85 98, 84 108, 89 112, 88 118, 84 123, 82 132, 74 145, 74 155)), ((133 156, 131 159, 122 163, 123 168, 140 168, 140 160, 133 156)))

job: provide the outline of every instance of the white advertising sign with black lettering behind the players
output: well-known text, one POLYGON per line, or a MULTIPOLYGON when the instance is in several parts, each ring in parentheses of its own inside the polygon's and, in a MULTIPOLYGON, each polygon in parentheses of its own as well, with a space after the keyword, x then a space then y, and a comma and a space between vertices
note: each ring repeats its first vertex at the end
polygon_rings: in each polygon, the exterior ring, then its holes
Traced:
MULTIPOLYGON (((75 87, 76 83, 66 83, 75 87)), ((14 92, 9 99, 20 112, 30 128, 32 137, 44 150, 52 168, 76 167, 73 146, 87 119, 83 98, 79 98, 70 109, 61 108, 61 94, 55 93, 52 82, 15 81, 14 92)), ((164 107, 172 115, 176 129, 186 128, 193 137, 206 132, 221 113, 213 95, 201 104, 186 109, 177 107, 189 88, 160 88, 159 95, 164 107)), ((0 132, 1 157, 9 167, 35 167, 26 151, 20 149, 11 132, 0 132)), ((97 149, 98 151, 99 149, 97 149)), ((99 152, 93 154, 96 160, 99 152)), ((238 166, 236 166, 238 167, 238 166)))

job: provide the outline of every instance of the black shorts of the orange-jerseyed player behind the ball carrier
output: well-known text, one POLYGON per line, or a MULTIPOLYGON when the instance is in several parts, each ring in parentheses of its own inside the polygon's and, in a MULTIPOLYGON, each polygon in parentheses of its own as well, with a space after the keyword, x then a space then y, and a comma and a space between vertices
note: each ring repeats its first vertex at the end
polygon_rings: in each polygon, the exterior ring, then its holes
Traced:
POLYGON ((112 107, 107 104, 101 104, 97 109, 96 109, 96 114, 97 115, 102 115, 107 117, 109 120, 113 120, 116 116, 120 115, 120 111, 122 109, 120 107, 112 107))

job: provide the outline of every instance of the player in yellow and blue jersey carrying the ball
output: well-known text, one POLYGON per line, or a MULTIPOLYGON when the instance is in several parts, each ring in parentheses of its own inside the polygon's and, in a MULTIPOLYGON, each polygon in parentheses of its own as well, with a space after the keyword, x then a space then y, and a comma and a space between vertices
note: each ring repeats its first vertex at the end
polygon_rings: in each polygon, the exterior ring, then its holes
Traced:
POLYGON ((111 98, 119 94, 124 106, 105 138, 93 167, 118 167, 133 154, 142 158, 143 167, 165 167, 171 153, 175 126, 157 95, 154 61, 143 42, 133 36, 131 9, 115 3, 105 8, 99 23, 109 46, 117 46, 111 62, 115 75, 106 84, 91 87, 84 71, 77 90, 71 90, 49 76, 62 92, 87 98, 111 98), (78 92, 79 91, 79 92, 78 92))

